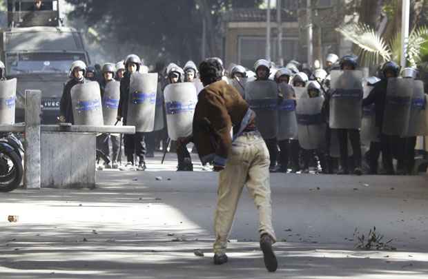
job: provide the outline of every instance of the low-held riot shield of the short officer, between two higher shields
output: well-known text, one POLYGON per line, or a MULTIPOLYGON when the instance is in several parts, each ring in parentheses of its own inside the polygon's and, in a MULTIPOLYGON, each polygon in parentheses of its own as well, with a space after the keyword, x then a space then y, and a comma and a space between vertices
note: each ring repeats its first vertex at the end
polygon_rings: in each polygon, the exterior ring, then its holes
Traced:
POLYGON ((318 149, 325 146, 327 124, 322 118, 324 97, 308 98, 303 96, 298 100, 295 113, 298 122, 298 138, 303 149, 318 149))

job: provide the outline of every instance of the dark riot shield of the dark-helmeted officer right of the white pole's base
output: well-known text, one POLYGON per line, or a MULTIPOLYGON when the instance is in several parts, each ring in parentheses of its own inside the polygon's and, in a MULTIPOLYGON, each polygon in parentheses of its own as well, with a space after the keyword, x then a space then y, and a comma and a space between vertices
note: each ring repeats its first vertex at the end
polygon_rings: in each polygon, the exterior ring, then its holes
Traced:
POLYGON ((389 136, 402 136, 409 127, 413 79, 389 78, 382 132, 389 136))

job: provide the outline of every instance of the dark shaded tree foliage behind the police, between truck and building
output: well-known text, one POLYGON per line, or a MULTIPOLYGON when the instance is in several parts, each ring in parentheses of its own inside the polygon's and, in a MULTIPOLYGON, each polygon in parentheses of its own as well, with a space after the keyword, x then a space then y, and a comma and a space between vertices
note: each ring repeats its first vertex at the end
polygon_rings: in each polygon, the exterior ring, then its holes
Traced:
MULTIPOLYGON (((174 61, 200 59, 202 8, 211 10, 213 37, 220 32, 222 12, 233 8, 257 7, 262 0, 66 0, 75 10, 70 21, 84 21, 91 28, 92 38, 101 45, 140 45, 157 50, 150 58, 174 61), (201 5, 203 7, 201 7, 201 5), (97 34, 97 36, 94 36, 97 34)), ((120 54, 125 56, 126 53, 120 54)), ((144 56, 144 55, 142 55, 144 56)), ((150 61, 154 63, 155 61, 150 61)))

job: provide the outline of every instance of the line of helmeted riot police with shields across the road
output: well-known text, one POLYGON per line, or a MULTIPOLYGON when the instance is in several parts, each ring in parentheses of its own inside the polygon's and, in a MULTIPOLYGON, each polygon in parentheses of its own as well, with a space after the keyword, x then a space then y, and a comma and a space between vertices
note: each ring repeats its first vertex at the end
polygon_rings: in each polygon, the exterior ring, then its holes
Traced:
MULTIPOLYGON (((329 54, 326 61, 324 70, 310 72, 301 69, 298 61, 277 69, 260 59, 254 72, 233 65, 224 73, 224 80, 257 114, 257 128, 269 149, 270 171, 411 174, 416 136, 428 134, 427 98, 417 71, 403 69, 400 77, 400 68, 390 61, 377 76, 363 77, 356 56, 339 59, 329 54), (362 145, 368 147, 364 154, 362 145)), ((192 133, 202 89, 193 61, 184 68, 170 63, 159 73, 148 73, 135 54, 106 63, 101 73, 75 61, 64 85, 59 121, 135 125, 135 135, 98 136, 97 148, 111 158, 100 169, 144 171, 146 156, 153 156, 162 142, 163 151, 170 146, 177 153, 177 170, 192 171, 188 149, 176 141, 192 133)))

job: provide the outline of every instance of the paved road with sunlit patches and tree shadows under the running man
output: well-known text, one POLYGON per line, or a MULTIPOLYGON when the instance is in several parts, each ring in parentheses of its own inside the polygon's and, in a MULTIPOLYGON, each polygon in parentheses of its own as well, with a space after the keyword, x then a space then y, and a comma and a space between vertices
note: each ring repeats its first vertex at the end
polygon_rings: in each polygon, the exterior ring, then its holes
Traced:
POLYGON ((246 191, 230 261, 212 264, 217 174, 173 172, 173 159, 99 172, 93 190, 1 194, 0 278, 427 278, 426 176, 273 174, 280 265, 267 273, 246 191), (396 251, 354 249, 354 230, 375 226, 396 251))

